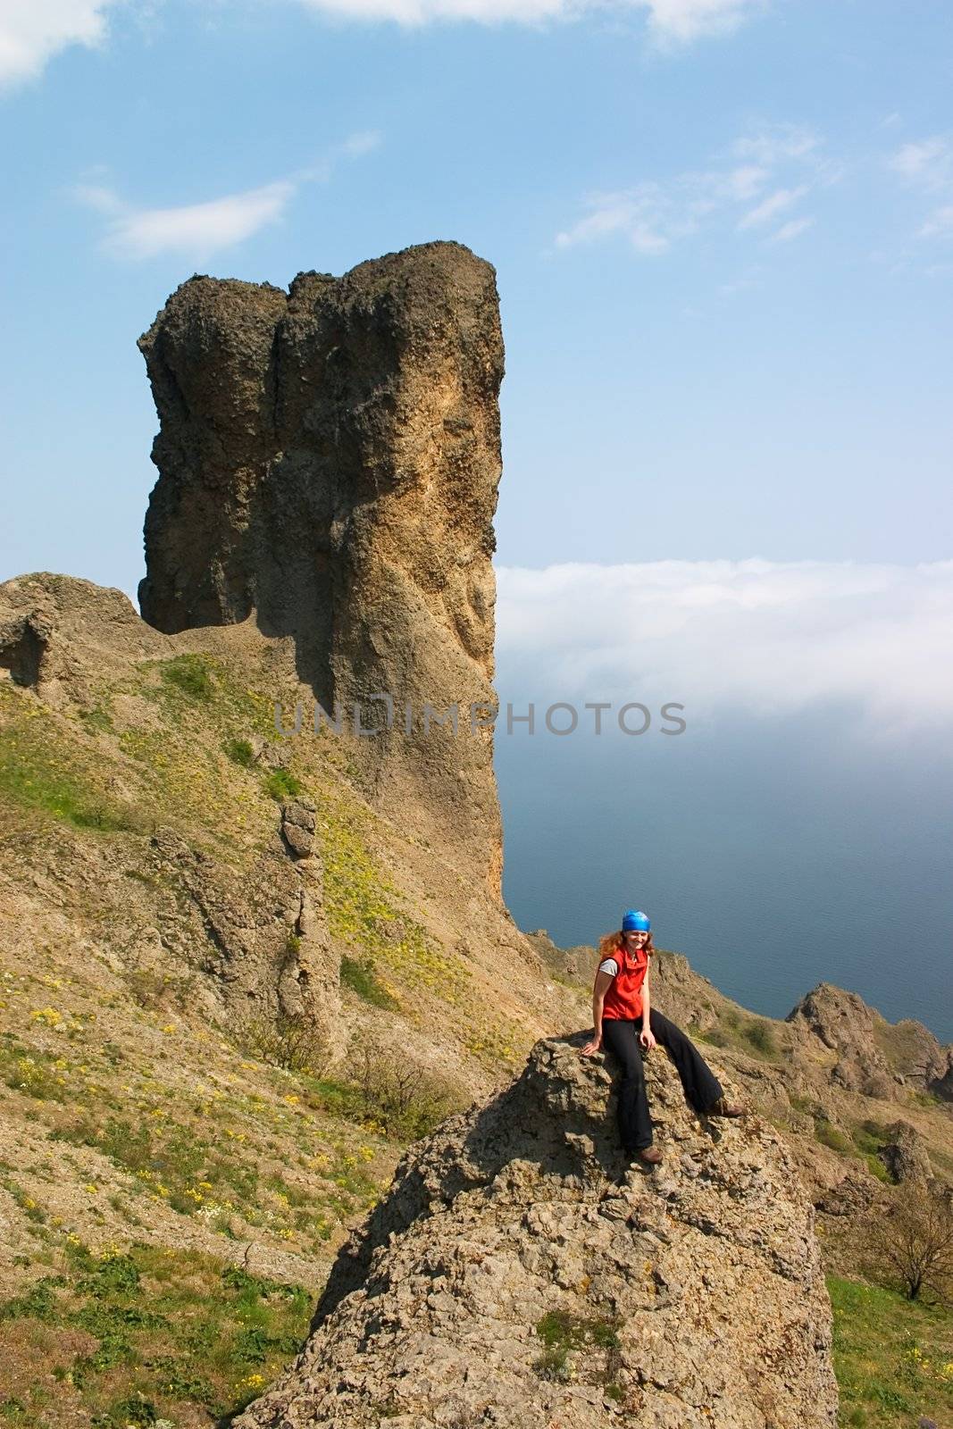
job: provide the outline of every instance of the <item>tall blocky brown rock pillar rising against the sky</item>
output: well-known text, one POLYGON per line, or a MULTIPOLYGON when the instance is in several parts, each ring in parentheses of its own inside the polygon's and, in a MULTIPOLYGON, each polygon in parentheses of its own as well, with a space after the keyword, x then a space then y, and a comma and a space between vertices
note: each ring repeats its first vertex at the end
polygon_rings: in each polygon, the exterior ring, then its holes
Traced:
POLYGON ((426 243, 287 293, 194 277, 140 347, 161 423, 143 617, 293 636, 369 795, 499 895, 492 730, 473 727, 496 706, 493 269, 426 243))

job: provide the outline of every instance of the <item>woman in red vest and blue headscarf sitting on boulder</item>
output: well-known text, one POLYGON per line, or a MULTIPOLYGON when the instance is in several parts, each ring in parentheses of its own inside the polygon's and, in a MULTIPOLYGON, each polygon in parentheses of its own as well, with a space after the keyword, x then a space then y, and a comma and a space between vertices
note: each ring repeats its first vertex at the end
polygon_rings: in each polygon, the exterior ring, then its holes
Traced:
POLYGON ((593 986, 593 1037, 582 1049, 592 1057, 607 1047, 622 1063, 619 1132, 630 1160, 660 1162, 652 1145, 652 1120, 640 1045, 649 1052, 663 1046, 674 1062, 686 1100, 702 1116, 743 1116, 727 1102, 722 1083, 674 1022, 650 1005, 649 962, 654 953, 652 925, 644 913, 629 909, 622 930, 599 940, 599 969, 593 986))

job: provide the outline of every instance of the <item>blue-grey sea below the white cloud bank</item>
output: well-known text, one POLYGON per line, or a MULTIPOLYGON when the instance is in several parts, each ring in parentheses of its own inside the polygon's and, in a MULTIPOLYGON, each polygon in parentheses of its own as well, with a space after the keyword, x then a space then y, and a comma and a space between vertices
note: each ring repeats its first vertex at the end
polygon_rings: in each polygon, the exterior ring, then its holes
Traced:
POLYGON ((657 947, 756 1013, 829 982, 953 1042, 953 736, 859 729, 850 704, 686 713, 677 736, 497 720, 513 917, 567 947, 642 909, 657 947))

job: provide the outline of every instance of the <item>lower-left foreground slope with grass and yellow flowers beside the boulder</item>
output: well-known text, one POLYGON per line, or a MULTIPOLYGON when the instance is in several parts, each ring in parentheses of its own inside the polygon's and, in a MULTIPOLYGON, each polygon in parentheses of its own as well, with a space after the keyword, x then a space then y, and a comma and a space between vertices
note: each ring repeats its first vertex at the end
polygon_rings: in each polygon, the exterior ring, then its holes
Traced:
POLYGON ((0 1007, 0 1416, 209 1423, 297 1348, 400 1147, 174 993, 36 952, 0 1007))

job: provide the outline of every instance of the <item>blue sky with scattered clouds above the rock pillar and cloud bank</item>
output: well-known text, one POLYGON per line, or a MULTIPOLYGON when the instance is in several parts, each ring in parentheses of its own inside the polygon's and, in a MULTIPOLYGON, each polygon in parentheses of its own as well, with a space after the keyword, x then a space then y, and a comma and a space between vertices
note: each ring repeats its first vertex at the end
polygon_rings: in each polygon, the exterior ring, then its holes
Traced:
POLYGON ((134 593, 183 277, 433 237, 499 273, 500 563, 950 554, 949 6, 4 14, 0 574, 134 593))

